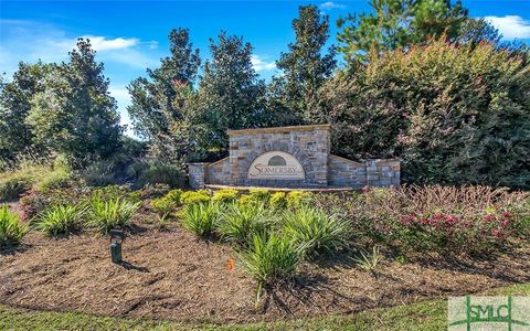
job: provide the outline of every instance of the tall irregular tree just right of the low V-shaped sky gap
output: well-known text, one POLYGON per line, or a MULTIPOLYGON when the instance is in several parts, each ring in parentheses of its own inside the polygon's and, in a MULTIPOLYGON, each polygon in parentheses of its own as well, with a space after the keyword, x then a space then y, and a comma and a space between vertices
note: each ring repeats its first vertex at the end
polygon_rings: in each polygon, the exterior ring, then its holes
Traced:
POLYGON ((174 161, 180 158, 178 139, 186 137, 174 137, 171 127, 184 120, 182 107, 193 90, 201 58, 187 29, 171 30, 169 43, 171 55, 161 58, 160 67, 147 70, 149 78, 136 78, 128 86, 132 104, 127 110, 136 134, 149 141, 151 154, 174 161))

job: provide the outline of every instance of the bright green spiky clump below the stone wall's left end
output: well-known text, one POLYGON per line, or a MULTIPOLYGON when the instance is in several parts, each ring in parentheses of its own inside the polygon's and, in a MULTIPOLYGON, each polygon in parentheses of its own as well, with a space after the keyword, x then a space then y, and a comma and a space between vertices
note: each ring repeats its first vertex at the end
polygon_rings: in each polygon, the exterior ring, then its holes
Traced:
POLYGON ((214 232, 220 214, 220 205, 216 203, 186 204, 181 213, 181 224, 198 237, 209 237, 214 232))

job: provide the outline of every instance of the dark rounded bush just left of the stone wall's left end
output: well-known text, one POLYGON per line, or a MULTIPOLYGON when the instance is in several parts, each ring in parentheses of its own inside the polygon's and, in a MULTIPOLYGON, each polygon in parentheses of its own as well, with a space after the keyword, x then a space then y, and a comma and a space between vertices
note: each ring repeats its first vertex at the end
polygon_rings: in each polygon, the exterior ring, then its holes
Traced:
POLYGON ((187 180, 186 173, 177 166, 150 163, 141 171, 138 183, 146 184, 167 184, 170 188, 184 188, 187 180))

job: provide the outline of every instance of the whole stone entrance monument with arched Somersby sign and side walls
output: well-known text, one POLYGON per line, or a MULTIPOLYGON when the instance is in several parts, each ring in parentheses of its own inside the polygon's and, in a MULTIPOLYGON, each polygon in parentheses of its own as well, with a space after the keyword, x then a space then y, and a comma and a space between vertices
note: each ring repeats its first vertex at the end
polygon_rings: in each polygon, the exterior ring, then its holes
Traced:
POLYGON ((396 159, 360 163, 332 156, 329 129, 329 125, 314 125, 229 131, 230 157, 190 163, 190 186, 361 189, 400 184, 396 159))

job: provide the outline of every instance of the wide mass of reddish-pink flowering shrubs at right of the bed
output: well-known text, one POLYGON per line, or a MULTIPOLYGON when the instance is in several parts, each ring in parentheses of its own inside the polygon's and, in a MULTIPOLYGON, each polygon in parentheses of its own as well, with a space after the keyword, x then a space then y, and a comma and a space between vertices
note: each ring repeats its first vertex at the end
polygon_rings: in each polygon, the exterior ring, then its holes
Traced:
POLYGON ((364 190, 348 199, 360 245, 400 254, 477 254, 530 234, 527 193, 488 186, 406 186, 364 190))

